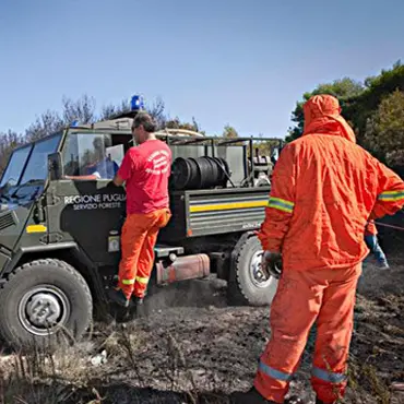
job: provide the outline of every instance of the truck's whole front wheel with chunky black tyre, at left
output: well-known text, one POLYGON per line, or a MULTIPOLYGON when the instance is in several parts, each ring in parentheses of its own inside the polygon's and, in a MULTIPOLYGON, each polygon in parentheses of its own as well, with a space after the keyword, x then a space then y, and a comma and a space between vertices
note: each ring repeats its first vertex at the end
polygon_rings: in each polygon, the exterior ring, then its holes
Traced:
POLYGON ((16 268, 0 289, 0 334, 13 348, 52 349, 78 341, 93 317, 87 283, 74 268, 54 259, 16 268))

